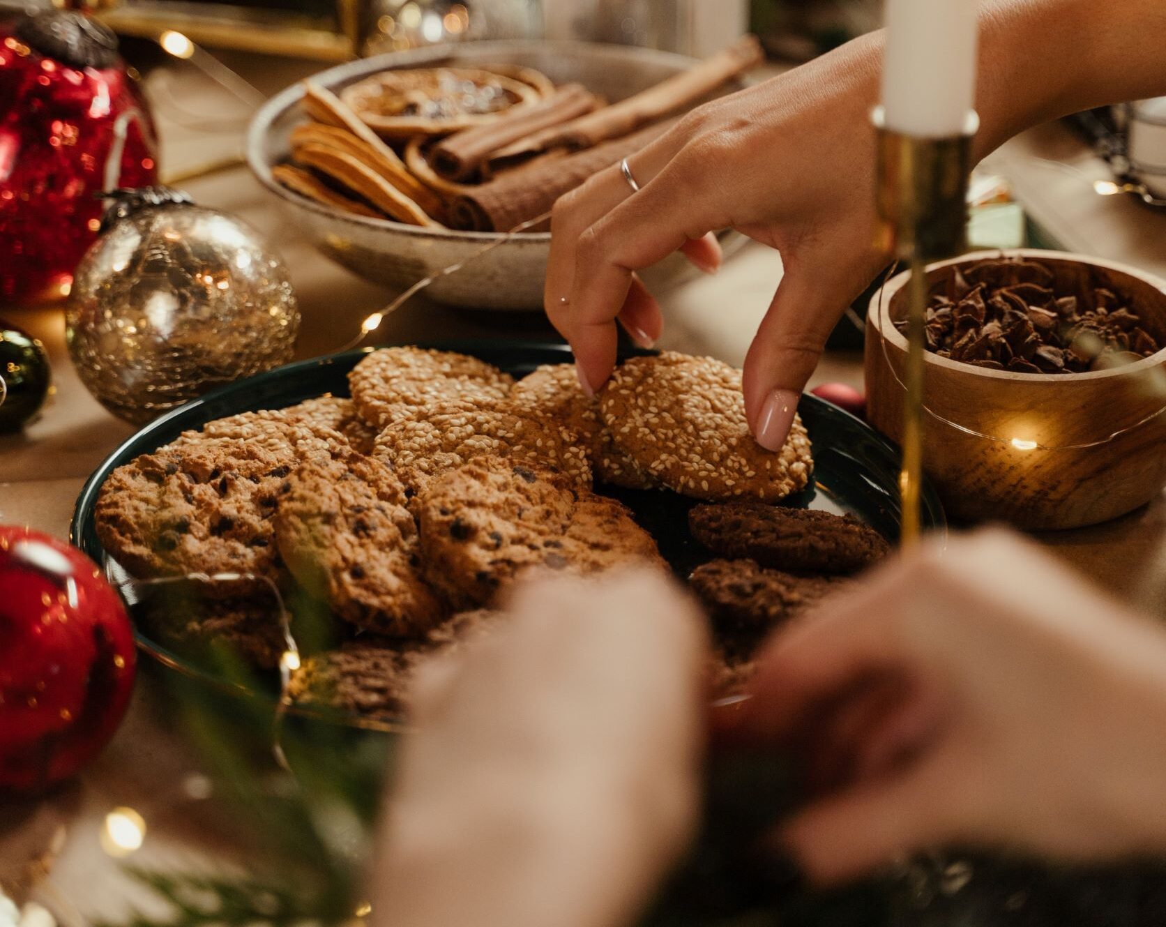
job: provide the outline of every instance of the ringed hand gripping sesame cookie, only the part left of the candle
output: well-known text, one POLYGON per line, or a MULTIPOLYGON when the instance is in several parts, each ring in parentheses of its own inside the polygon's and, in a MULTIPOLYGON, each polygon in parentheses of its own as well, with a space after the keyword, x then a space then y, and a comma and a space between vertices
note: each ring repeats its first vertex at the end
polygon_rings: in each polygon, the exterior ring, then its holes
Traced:
POLYGON ((683 250, 711 271, 707 233, 736 229, 781 252, 785 278, 745 361, 758 441, 777 450, 826 339, 874 278, 874 133, 880 41, 705 104, 628 164, 596 175, 555 206, 546 309, 598 389, 616 363, 616 319, 642 346, 660 307, 634 272, 683 250), (564 302, 566 300, 566 302, 564 302), (791 409, 784 416, 780 409, 791 409))

